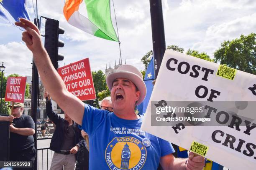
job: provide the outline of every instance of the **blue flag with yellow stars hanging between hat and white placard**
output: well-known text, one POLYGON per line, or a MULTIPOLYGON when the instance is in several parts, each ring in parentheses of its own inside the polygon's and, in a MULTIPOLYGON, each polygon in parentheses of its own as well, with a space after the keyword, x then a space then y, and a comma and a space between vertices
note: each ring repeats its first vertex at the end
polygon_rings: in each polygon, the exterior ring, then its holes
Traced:
POLYGON ((155 70, 154 70, 154 59, 153 57, 151 58, 148 68, 146 70, 146 74, 144 77, 144 82, 147 87, 147 94, 143 102, 137 106, 136 113, 140 115, 144 115, 148 106, 148 101, 150 99, 152 90, 153 90, 153 84, 152 81, 155 80, 155 70))

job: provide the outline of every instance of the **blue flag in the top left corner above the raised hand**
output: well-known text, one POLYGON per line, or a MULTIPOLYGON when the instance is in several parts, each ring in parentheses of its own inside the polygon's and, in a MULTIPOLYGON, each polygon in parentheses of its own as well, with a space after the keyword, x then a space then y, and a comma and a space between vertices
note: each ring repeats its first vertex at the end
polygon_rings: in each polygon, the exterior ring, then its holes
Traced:
POLYGON ((14 25, 18 18, 30 20, 26 0, 0 0, 0 18, 14 25))

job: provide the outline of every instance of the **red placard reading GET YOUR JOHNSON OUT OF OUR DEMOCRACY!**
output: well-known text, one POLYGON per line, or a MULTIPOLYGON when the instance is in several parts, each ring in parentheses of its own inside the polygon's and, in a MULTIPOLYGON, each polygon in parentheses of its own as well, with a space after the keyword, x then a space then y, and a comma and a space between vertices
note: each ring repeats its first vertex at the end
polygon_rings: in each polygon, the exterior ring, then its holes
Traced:
POLYGON ((80 100, 96 99, 89 58, 58 68, 67 90, 80 100))

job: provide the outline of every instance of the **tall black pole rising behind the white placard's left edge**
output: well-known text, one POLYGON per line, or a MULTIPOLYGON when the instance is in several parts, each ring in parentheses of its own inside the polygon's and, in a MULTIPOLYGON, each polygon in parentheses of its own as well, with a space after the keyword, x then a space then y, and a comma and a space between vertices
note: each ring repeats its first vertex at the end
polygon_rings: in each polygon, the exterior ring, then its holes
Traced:
POLYGON ((164 19, 161 0, 149 0, 155 78, 158 75, 165 52, 164 19))

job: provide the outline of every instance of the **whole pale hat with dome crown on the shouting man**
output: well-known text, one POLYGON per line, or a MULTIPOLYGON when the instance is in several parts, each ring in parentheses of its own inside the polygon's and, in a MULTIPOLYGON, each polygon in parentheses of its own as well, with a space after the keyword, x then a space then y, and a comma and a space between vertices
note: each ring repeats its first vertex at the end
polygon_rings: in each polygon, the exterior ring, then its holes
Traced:
POLYGON ((121 65, 120 67, 118 67, 116 72, 111 72, 106 77, 106 82, 110 91, 112 89, 113 81, 117 78, 125 78, 131 80, 136 85, 138 90, 141 92, 140 98, 136 102, 136 105, 141 104, 141 102, 146 97, 147 92, 141 72, 132 65, 121 65))

